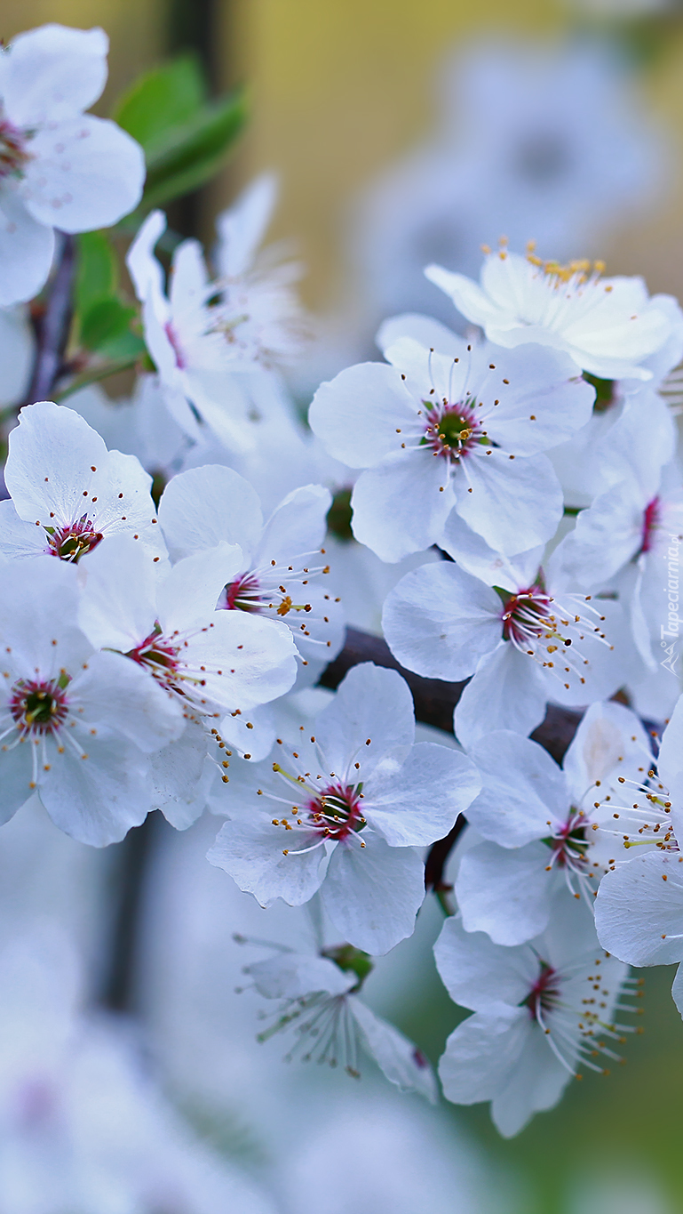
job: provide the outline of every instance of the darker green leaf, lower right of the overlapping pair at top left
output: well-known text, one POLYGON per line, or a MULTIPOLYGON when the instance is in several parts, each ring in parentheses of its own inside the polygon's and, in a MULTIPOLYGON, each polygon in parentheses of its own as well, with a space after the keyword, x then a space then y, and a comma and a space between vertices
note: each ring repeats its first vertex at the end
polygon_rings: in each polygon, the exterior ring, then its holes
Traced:
POLYGON ((214 177, 245 120, 246 98, 238 90, 203 106, 183 126, 167 131, 148 152, 142 209, 165 205, 214 177))

